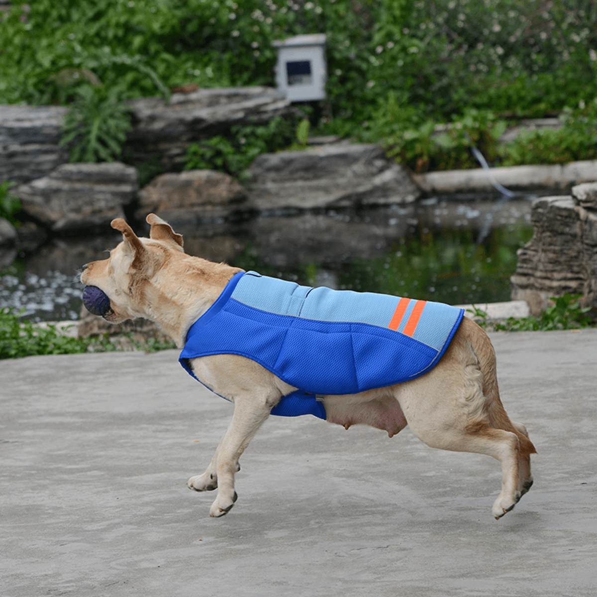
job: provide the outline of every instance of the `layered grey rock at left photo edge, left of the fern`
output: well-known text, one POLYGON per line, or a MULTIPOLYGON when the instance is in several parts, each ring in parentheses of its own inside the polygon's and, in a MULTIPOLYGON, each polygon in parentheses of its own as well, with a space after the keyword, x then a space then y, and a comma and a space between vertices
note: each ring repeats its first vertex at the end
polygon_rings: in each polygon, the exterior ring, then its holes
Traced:
POLYGON ((0 180, 28 182, 68 160, 62 106, 0 106, 0 180))

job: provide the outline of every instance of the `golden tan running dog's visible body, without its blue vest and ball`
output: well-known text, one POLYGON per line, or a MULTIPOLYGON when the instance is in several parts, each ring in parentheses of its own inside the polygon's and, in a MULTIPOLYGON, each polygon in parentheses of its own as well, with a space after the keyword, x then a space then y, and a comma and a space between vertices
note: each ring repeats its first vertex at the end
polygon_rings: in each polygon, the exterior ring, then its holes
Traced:
MULTIPOLYGON (((81 281, 109 298, 106 321, 150 319, 183 347, 187 331, 220 296, 239 270, 183 251, 182 236, 155 214, 147 216, 150 238, 138 238, 122 219, 112 227, 122 242, 109 259, 84 266, 81 281)), ((195 376, 234 402, 232 423, 202 475, 187 485, 218 489, 211 516, 223 516, 236 501, 234 475, 239 458, 282 396, 296 390, 238 355, 191 359, 195 376)), ((435 368, 411 381, 346 396, 323 396, 327 420, 346 428, 367 424, 390 435, 410 425, 432 448, 487 454, 501 462, 501 493, 493 504, 500 518, 533 484, 530 454, 535 448, 525 427, 512 423, 498 393, 496 357, 487 334, 464 318, 435 368)))

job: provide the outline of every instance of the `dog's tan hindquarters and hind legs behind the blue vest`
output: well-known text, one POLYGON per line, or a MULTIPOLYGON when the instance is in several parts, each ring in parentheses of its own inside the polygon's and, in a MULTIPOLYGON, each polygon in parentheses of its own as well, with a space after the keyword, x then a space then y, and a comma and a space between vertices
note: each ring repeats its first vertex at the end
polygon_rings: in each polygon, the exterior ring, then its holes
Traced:
POLYGON ((413 433, 430 447, 487 454, 500 461, 501 493, 492 510, 500 518, 524 493, 521 478, 530 478, 528 457, 534 447, 504 411, 493 348, 481 332, 465 319, 438 365, 417 380, 395 386, 395 395, 413 433), (521 462, 527 463, 522 471, 521 462))

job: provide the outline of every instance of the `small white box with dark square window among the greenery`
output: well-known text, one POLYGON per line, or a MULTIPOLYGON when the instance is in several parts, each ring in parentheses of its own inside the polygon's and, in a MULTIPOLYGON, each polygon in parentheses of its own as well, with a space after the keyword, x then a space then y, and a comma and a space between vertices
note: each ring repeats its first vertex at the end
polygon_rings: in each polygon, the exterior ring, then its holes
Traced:
POLYGON ((325 33, 297 35, 275 41, 278 48, 276 84, 290 101, 325 99, 327 64, 325 33))

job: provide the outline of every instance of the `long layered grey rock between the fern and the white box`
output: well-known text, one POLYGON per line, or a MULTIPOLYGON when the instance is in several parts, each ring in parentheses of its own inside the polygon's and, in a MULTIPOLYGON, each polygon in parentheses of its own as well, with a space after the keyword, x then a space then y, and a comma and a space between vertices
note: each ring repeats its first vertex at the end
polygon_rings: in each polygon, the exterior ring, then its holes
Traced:
POLYGON ((284 94, 271 87, 232 87, 131 100, 134 129, 125 143, 131 164, 159 158, 165 171, 180 171, 190 144, 226 132, 233 125, 265 124, 294 112, 284 94))

